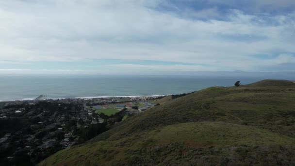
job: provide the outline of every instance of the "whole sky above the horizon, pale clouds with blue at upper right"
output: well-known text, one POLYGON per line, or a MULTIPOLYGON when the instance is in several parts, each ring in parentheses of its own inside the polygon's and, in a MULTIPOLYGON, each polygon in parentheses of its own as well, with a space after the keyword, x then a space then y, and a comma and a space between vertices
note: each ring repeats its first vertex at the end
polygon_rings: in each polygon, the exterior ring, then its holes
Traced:
POLYGON ((294 72, 295 0, 1 0, 0 74, 294 72))

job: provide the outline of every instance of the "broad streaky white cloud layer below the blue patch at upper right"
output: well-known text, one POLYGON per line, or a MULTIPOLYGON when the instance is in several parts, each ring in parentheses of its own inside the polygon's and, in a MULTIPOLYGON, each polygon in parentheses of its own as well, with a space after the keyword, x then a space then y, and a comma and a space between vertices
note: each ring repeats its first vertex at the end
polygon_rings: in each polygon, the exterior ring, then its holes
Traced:
MULTIPOLYGON (((232 10, 224 20, 197 20, 153 9, 163 1, 1 1, 0 61, 146 59, 210 65, 185 70, 253 71, 285 59, 248 55, 295 53, 295 13, 260 17, 232 10)), ((215 11, 195 14, 214 17, 215 11)))

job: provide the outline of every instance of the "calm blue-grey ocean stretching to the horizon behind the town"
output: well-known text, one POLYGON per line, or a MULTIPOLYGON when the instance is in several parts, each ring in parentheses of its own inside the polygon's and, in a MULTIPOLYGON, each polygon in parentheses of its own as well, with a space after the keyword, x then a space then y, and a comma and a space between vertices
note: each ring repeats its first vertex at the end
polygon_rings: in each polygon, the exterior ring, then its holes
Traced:
POLYGON ((182 94, 261 78, 206 76, 0 76, 0 101, 182 94))

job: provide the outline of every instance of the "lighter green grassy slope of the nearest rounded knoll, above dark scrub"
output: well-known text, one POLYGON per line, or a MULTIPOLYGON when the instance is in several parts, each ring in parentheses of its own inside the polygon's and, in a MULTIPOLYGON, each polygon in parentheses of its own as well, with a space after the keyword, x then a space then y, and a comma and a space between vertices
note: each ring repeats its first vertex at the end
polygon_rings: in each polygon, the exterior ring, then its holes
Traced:
MULTIPOLYGON (((294 143, 294 138, 245 125, 223 122, 180 123, 118 140, 99 141, 64 149, 50 156, 40 166, 51 166, 54 162, 76 166, 95 163, 116 165, 117 160, 132 165, 134 158, 141 163, 148 163, 152 159, 161 160, 161 155, 177 156, 179 152, 176 149, 185 152, 187 157, 194 156, 196 151, 206 154, 219 149, 223 149, 224 156, 235 153, 233 149, 242 152, 244 149, 247 155, 255 155, 263 149, 279 153, 279 147, 294 143), (156 155, 157 149, 161 149, 161 155, 156 155)), ((176 162, 174 157, 170 161, 176 162)))

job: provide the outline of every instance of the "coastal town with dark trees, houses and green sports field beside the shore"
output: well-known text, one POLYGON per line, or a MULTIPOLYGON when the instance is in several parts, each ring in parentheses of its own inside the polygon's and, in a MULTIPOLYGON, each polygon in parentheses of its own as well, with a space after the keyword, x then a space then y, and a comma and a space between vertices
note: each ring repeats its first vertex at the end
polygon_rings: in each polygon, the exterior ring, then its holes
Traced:
POLYGON ((35 165, 158 105, 154 101, 163 97, 2 101, 0 163, 35 165))

